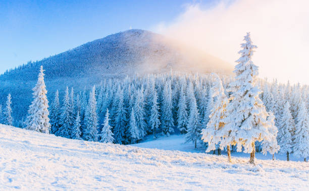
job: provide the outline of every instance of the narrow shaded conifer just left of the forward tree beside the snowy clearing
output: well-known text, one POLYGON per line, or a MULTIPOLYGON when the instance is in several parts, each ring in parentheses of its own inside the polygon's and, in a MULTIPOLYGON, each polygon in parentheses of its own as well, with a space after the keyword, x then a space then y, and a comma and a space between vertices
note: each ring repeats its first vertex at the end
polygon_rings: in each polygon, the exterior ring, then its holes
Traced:
POLYGON ((183 86, 180 89, 180 96, 178 102, 178 112, 177 112, 177 128, 181 134, 187 133, 187 105, 186 105, 186 95, 183 90, 183 86))

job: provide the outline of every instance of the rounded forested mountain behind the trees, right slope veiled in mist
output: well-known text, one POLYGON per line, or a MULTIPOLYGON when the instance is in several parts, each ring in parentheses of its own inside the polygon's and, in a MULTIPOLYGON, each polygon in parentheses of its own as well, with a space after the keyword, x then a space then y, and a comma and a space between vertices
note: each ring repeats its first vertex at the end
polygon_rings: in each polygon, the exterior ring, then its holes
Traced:
MULTIPOLYGON (((49 101, 66 86, 75 92, 105 78, 164 71, 229 73, 232 65, 150 31, 132 29, 85 43, 63 53, 28 62, 0 75, 0 103, 11 93, 16 120, 26 114, 39 67, 45 70, 49 101)), ((61 97, 62 99, 62 97, 61 97)))

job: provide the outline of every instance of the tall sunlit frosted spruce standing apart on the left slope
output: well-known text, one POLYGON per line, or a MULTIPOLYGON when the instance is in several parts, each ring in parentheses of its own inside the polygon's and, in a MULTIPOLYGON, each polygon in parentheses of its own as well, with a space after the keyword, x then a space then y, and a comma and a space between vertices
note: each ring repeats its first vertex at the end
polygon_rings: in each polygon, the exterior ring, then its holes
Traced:
POLYGON ((33 101, 28 109, 26 129, 49 134, 50 124, 48 118, 48 100, 46 97, 47 91, 44 83, 43 72, 43 66, 41 66, 37 83, 32 89, 33 101))

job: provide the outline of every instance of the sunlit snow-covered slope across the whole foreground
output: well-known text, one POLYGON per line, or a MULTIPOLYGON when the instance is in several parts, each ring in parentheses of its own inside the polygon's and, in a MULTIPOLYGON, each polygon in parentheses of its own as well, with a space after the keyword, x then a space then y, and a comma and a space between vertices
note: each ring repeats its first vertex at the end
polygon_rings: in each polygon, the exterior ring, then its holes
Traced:
MULTIPOLYGON (((173 144, 159 141, 161 148, 173 144)), ((231 164, 225 156, 69 140, 6 125, 0 149, 0 190, 309 190, 304 162, 253 166, 233 157, 231 164)))

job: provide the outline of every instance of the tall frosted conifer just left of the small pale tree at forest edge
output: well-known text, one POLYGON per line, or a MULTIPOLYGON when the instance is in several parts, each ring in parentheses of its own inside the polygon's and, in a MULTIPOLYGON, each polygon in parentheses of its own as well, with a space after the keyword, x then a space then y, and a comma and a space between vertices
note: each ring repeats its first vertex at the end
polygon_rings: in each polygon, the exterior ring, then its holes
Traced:
POLYGON ((97 141, 97 113, 95 100, 95 86, 89 93, 88 105, 85 113, 84 140, 97 141))

